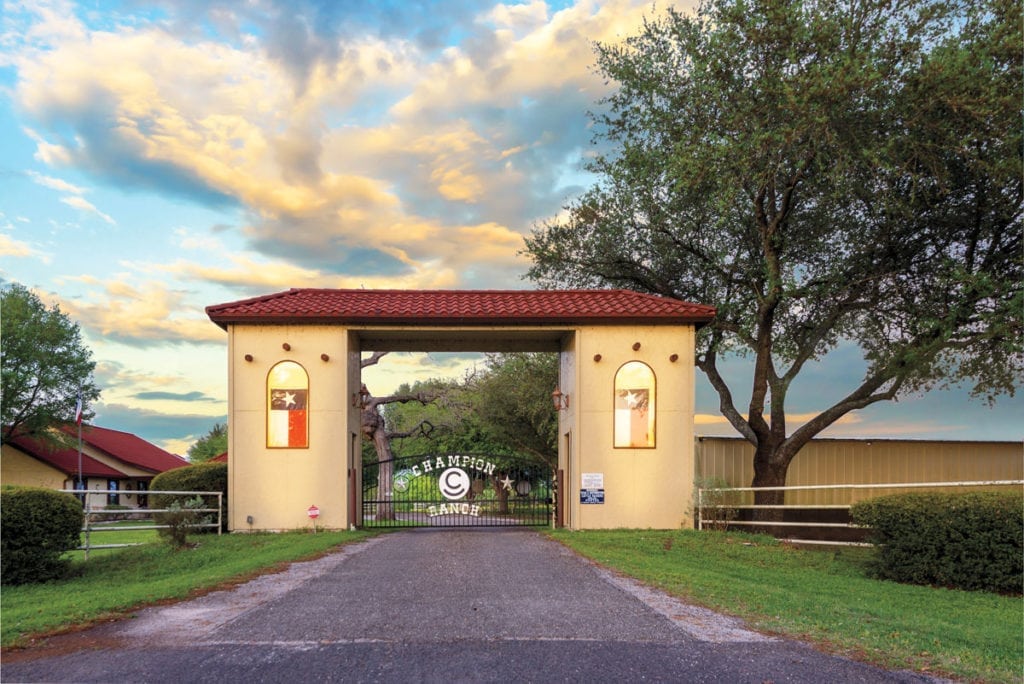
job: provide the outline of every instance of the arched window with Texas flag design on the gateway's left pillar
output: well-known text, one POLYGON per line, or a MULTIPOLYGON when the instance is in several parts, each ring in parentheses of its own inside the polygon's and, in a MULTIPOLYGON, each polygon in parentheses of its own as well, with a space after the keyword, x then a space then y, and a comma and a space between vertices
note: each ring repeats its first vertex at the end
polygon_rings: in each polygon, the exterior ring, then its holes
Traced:
POLYGON ((276 364, 266 376, 266 445, 309 446, 309 376, 295 361, 276 364))

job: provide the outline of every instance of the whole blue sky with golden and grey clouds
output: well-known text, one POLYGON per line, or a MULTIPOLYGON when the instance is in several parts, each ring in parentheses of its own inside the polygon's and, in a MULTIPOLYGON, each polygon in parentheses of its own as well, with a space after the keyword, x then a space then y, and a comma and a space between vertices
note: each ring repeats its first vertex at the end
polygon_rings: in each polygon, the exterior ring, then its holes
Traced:
MULTIPOLYGON (((666 2, 659 2, 664 7, 666 2)), ((210 304, 292 287, 525 288, 522 238, 592 179, 594 41, 650 0, 4 1, 0 279, 77 322, 95 422, 183 454, 226 415, 210 304)), ((707 302, 714 304, 714 302, 707 302)), ((459 376, 387 357, 368 384, 459 376)), ((794 420, 848 388, 811 369, 794 420)), ((749 385, 734 366, 737 396, 749 385)), ((697 387, 697 430, 731 434, 697 387)), ((831 436, 1020 439, 1020 397, 887 403, 831 436)))

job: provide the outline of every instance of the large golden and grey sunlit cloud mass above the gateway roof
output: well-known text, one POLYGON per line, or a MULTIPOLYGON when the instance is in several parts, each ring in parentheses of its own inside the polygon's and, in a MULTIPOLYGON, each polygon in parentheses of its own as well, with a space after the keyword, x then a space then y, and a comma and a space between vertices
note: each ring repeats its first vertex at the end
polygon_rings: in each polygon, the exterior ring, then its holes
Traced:
MULTIPOLYGON (((607 87, 592 41, 621 39, 651 8, 499 4, 464 17, 459 45, 430 51, 373 34, 339 49, 334 13, 313 26, 284 5, 236 9, 216 18, 231 42, 173 19, 90 31, 70 6, 40 10, 38 49, 13 59, 15 98, 51 124, 31 132, 37 158, 234 203, 250 248, 298 268, 371 249, 388 279, 422 282, 429 268, 458 284, 504 257, 492 272, 507 285, 524 269, 513 236, 565 199, 558 167, 586 146, 584 112, 607 87), (266 33, 245 34, 249 20, 266 33), (467 240, 492 226, 507 234, 467 240)), ((80 195, 62 201, 113 222, 80 195)))

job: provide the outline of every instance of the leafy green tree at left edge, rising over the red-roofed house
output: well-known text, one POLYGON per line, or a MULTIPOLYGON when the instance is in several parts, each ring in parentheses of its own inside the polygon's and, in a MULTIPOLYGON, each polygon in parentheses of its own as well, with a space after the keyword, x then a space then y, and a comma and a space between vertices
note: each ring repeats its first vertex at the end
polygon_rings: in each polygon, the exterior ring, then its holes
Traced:
POLYGON ((81 397, 83 420, 99 398, 95 361, 82 343, 78 324, 55 304, 47 308, 17 283, 0 290, 0 424, 3 440, 32 435, 60 440, 50 428, 74 423, 81 397))

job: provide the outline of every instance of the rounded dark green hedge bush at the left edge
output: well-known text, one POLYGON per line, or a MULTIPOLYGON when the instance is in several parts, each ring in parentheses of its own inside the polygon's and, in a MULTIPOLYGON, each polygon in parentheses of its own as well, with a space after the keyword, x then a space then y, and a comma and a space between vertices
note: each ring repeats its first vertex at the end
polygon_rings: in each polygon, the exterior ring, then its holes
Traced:
POLYGON ((27 486, 0 490, 0 581, 25 585, 59 580, 79 546, 85 516, 73 495, 27 486))

